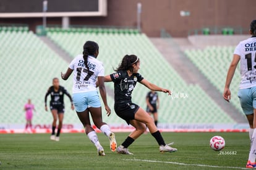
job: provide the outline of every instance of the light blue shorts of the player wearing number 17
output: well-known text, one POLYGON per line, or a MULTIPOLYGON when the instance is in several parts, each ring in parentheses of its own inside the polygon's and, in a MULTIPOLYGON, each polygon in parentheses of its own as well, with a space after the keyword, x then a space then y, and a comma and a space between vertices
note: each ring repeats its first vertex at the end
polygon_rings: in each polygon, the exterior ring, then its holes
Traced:
POLYGON ((74 93, 73 101, 77 112, 85 111, 87 108, 100 108, 100 98, 98 91, 88 91, 84 93, 74 93))

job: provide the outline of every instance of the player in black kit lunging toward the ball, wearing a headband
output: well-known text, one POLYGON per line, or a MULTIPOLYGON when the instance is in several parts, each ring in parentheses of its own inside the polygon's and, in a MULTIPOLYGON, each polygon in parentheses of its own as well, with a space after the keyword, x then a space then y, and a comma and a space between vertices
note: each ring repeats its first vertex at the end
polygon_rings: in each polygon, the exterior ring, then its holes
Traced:
POLYGON ((140 106, 132 103, 132 90, 137 82, 142 83, 150 90, 163 91, 171 95, 171 91, 154 85, 143 79, 138 73, 140 69, 140 59, 135 55, 126 55, 123 57, 121 64, 113 74, 105 76, 105 82, 114 82, 114 111, 117 116, 124 119, 127 124, 135 127, 135 130, 129 134, 124 142, 117 147, 117 153, 133 155, 127 149, 135 139, 142 135, 146 128, 150 130, 151 135, 156 139, 160 146, 161 152, 174 152, 176 148, 169 147, 173 143, 166 145, 164 139, 157 129, 152 117, 148 115, 140 106), (146 127, 147 125, 147 127, 146 127))

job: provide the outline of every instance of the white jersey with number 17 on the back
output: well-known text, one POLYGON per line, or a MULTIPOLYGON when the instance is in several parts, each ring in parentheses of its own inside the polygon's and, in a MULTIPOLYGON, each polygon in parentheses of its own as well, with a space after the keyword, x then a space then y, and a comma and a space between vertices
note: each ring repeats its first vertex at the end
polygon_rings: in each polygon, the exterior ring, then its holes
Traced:
POLYGON ((70 62, 69 68, 73 71, 73 93, 96 91, 96 80, 98 76, 104 76, 105 69, 102 62, 95 57, 88 56, 88 68, 85 66, 83 55, 80 54, 70 62))

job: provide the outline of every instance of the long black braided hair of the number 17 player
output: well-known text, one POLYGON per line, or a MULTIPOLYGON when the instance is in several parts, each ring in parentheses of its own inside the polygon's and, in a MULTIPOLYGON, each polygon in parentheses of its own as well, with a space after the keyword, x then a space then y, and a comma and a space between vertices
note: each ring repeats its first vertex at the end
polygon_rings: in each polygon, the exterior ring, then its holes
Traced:
MULTIPOLYGON (((89 67, 88 67, 88 56, 94 56, 96 52, 99 51, 99 46, 96 42, 94 41, 86 41, 85 44, 83 45, 83 60, 85 62, 85 67, 87 67, 88 73, 89 72, 89 67)), ((96 57, 96 56, 94 56, 96 57)))

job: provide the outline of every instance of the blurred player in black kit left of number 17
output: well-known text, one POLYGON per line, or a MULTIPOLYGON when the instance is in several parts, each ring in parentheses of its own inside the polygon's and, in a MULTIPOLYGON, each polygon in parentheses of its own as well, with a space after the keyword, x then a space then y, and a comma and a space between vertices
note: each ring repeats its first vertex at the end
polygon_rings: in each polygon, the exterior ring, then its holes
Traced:
POLYGON ((65 111, 64 94, 69 97, 71 102, 71 109, 74 110, 72 97, 64 87, 59 85, 59 79, 55 77, 53 79, 53 86, 49 87, 48 91, 45 94, 45 111, 48 111, 47 96, 51 95, 51 101, 49 103, 51 113, 53 114, 52 132, 50 137, 51 140, 59 141, 59 135, 61 134, 62 122, 64 119, 64 111, 65 111), (57 119, 59 119, 59 125, 58 125, 57 134, 55 136, 57 119))

